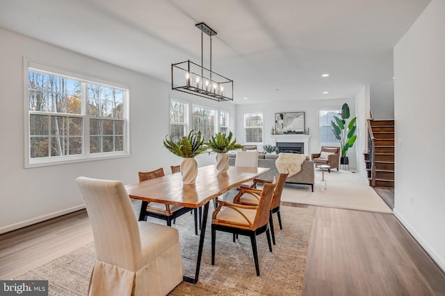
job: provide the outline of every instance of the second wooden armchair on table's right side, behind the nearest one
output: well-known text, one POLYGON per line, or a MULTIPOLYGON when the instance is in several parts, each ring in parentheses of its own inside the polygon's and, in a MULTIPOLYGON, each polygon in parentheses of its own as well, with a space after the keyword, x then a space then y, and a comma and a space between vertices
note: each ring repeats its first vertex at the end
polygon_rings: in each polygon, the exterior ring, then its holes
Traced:
MULTIPOLYGON (((270 203, 270 216, 269 216, 269 225, 270 225, 270 233, 272 234, 272 241, 275 245, 275 230, 273 228, 273 214, 277 213, 278 223, 280 224, 280 229, 283 229, 281 223, 281 215, 280 215, 280 204, 281 204, 281 195, 284 189, 284 184, 286 183, 286 178, 289 175, 289 171, 285 171, 284 173, 280 173, 280 176, 277 180, 277 186, 275 186, 275 190, 273 191, 272 202, 270 203)), ((272 182, 268 180, 254 179, 255 188, 245 188, 241 187, 237 190, 239 193, 234 197, 234 203, 236 204, 245 204, 245 205, 257 205, 259 204, 259 200, 261 198, 261 189, 256 189, 257 184, 270 184, 272 182)))

